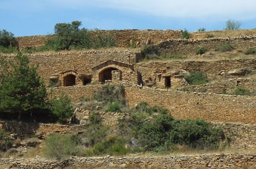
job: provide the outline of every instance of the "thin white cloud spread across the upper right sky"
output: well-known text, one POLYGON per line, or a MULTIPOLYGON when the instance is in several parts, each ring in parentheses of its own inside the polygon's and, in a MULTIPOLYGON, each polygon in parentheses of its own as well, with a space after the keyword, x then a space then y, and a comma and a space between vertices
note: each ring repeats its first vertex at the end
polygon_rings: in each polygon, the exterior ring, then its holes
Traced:
POLYGON ((173 18, 248 20, 256 18, 255 0, 46 0, 65 8, 100 7, 173 18))

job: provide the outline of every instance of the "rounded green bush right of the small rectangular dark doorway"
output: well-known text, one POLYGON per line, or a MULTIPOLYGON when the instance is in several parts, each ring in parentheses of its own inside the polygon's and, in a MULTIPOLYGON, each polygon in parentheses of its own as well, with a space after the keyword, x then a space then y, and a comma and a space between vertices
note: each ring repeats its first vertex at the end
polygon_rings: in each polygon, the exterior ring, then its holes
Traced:
POLYGON ((185 76, 185 80, 190 85, 200 85, 210 82, 210 80, 207 78, 207 75, 201 71, 191 72, 185 76))

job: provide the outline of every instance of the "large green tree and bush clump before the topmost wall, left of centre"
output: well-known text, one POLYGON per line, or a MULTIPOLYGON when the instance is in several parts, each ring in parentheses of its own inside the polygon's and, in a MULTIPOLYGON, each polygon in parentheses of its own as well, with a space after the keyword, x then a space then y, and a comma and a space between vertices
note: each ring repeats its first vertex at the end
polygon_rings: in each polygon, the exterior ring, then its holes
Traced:
POLYGON ((55 25, 55 37, 49 38, 41 50, 90 49, 113 47, 117 42, 112 35, 103 36, 101 32, 79 29, 81 22, 58 23, 55 25))

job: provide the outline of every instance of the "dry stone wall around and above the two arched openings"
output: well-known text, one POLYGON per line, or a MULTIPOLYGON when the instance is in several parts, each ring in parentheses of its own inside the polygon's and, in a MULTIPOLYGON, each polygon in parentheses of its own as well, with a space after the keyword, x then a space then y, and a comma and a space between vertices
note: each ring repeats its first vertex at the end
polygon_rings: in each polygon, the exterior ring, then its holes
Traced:
MULTIPOLYGON (((49 84, 53 74, 75 71, 82 75, 93 75, 92 67, 108 60, 126 64, 135 64, 140 57, 139 53, 129 51, 86 51, 51 54, 28 54, 31 64, 39 64, 38 73, 49 84)), ((13 59, 14 55, 0 55, 0 58, 13 59)), ((97 75, 95 75, 97 76, 97 75)), ((98 77, 98 76, 97 76, 98 77)), ((78 83, 78 82, 77 82, 78 83)), ((81 82, 82 83, 82 82, 81 82)))

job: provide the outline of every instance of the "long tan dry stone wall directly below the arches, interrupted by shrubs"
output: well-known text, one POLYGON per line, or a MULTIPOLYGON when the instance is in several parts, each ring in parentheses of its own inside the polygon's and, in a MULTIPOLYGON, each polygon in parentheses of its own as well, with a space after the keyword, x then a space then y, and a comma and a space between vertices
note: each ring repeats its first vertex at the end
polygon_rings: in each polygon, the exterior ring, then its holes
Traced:
MULTIPOLYGON (((73 86, 52 90, 56 95, 64 92, 74 101, 81 96, 92 97, 97 88, 73 86)), ((201 118, 216 122, 256 123, 256 97, 252 96, 181 92, 125 84, 125 97, 130 106, 147 101, 150 105, 167 108, 174 117, 181 119, 201 118)))

